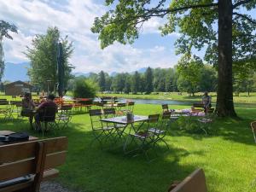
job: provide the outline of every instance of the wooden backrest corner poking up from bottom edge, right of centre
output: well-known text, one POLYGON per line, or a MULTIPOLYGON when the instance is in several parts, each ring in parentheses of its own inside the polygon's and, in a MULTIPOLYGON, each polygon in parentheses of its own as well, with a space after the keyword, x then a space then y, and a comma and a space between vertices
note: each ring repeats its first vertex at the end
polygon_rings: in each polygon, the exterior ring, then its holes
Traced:
POLYGON ((189 177, 186 177, 174 189, 170 189, 168 192, 207 192, 205 173, 202 169, 195 170, 189 177))

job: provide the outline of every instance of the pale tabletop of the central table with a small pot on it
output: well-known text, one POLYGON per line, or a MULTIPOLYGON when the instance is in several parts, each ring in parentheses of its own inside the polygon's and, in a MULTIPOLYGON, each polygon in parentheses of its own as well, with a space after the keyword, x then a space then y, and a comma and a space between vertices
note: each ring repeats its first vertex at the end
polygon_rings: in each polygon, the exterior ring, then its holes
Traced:
POLYGON ((124 124, 124 125, 142 122, 142 121, 146 121, 146 120, 148 120, 148 116, 141 116, 141 115, 134 115, 134 119, 131 121, 130 120, 128 121, 126 116, 101 119, 102 122, 124 124))

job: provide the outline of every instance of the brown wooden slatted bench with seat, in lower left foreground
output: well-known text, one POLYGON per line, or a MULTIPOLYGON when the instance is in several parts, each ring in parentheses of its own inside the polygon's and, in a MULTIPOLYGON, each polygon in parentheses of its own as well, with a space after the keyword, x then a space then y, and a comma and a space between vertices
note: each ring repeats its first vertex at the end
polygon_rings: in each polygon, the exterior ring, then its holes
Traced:
POLYGON ((38 192, 41 181, 58 176, 66 154, 67 137, 0 146, 0 192, 38 192))

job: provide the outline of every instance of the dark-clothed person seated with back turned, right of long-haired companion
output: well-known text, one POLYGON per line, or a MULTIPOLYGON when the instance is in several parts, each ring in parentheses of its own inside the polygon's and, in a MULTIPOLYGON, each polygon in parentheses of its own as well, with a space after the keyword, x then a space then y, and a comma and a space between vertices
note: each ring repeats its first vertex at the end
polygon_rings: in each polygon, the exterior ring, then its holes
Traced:
POLYGON ((47 96, 47 99, 45 102, 42 102, 38 108, 37 108, 37 113, 35 115, 35 121, 36 121, 36 125, 37 125, 37 129, 41 130, 41 125, 40 125, 40 121, 50 121, 52 119, 55 119, 55 113, 57 113, 58 111, 58 107, 56 105, 56 103, 54 102, 55 100, 55 96, 52 94, 49 94, 49 96, 47 96), (45 118, 48 119, 45 119, 45 118))

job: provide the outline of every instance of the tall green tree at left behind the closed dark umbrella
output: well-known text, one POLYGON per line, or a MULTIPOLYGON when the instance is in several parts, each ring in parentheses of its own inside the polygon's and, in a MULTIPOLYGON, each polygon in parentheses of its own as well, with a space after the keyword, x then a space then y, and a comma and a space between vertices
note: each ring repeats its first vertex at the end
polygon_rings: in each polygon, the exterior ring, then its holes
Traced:
POLYGON ((36 35, 32 40, 32 47, 26 48, 26 56, 31 61, 28 75, 32 83, 41 84, 44 90, 49 85, 49 90, 55 90, 57 79, 57 43, 61 42, 64 55, 64 84, 72 79, 72 64, 68 59, 73 54, 73 43, 69 42, 67 36, 61 38, 61 32, 57 27, 49 27, 45 35, 36 35))

